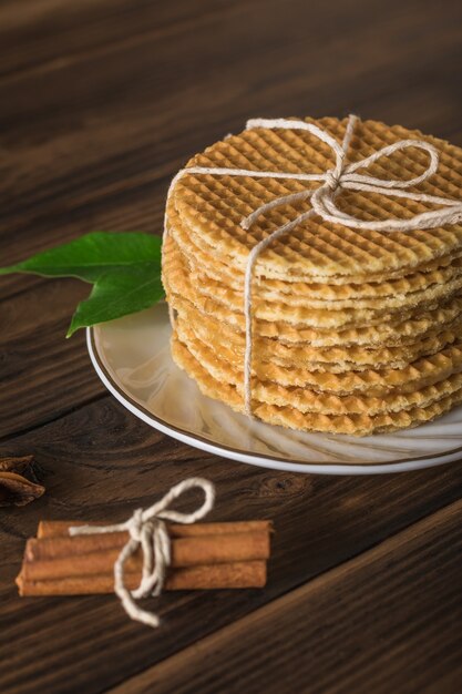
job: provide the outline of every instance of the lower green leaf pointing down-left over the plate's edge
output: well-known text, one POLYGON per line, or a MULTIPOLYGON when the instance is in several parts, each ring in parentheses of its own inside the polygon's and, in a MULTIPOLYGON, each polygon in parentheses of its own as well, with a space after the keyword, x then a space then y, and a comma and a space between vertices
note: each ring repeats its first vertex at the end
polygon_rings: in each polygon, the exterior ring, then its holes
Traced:
POLYGON ((76 307, 66 337, 79 328, 148 308, 163 296, 161 268, 155 271, 153 264, 106 273, 97 279, 89 298, 76 307))

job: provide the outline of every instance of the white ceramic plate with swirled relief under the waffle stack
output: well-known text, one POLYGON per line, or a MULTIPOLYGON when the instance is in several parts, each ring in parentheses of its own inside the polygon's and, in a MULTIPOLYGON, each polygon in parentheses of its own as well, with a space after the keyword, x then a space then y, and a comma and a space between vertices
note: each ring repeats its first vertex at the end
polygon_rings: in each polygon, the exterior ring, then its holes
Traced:
POLYGON ((171 358, 164 303, 88 330, 103 384, 155 429, 265 468, 324 474, 418 470, 462 458, 462 407, 434 422, 367 438, 304 433, 249 420, 199 392, 171 358))

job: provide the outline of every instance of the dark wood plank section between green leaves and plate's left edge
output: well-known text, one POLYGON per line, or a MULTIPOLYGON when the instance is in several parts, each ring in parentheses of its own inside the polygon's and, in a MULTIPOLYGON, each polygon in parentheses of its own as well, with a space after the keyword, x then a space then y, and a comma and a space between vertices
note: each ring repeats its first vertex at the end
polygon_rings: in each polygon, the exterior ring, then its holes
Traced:
POLYGON ((81 330, 65 339, 72 313, 89 286, 42 282, 0 306, 0 440, 106 395, 81 330))

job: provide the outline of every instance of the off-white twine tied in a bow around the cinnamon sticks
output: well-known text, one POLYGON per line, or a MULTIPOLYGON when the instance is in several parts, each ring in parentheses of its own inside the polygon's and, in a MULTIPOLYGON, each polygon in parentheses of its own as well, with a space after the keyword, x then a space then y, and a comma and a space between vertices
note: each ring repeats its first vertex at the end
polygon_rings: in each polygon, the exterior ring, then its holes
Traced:
POLYGON ((160 619, 153 612, 142 610, 136 604, 140 598, 158 595, 165 583, 166 572, 172 561, 171 539, 164 521, 189 524, 204 518, 215 502, 215 488, 212 482, 199 477, 192 477, 172 489, 157 503, 148 509, 137 509, 124 523, 113 525, 76 525, 69 529, 71 535, 91 535, 106 532, 123 532, 130 539, 123 547, 114 564, 114 592, 119 595, 122 606, 132 620, 156 627, 160 619), (181 513, 168 509, 168 506, 189 489, 202 489, 204 503, 193 513, 181 513), (138 548, 143 551, 143 572, 140 585, 130 591, 125 588, 125 562, 138 548))

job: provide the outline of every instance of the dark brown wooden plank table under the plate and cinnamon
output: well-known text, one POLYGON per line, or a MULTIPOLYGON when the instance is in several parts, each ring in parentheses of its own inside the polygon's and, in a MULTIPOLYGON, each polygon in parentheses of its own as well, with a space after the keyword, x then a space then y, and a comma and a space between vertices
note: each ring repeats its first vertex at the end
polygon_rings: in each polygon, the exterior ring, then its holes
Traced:
MULTIPOLYGON (((399 122, 462 144, 460 2, 3 0, 1 262, 91 229, 160 233, 170 178, 249 115, 399 122)), ((462 465, 301 476, 216 458, 135 419, 64 339, 86 287, 1 278, 1 453, 47 494, 0 512, 0 691, 462 691, 462 465), (125 519, 173 483, 213 519, 273 518, 265 590, 166 594, 162 629, 107 598, 20 600, 38 520, 125 519)))

